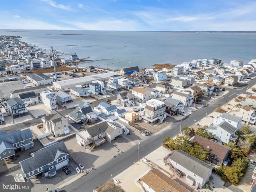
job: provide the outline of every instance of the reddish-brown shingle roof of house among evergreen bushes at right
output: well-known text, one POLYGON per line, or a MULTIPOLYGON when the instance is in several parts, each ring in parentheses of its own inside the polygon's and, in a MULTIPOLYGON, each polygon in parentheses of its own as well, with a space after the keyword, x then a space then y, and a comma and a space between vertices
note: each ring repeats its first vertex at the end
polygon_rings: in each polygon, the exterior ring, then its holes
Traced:
POLYGON ((214 154, 221 159, 224 159, 229 151, 228 147, 220 145, 199 135, 195 135, 193 142, 201 144, 203 149, 210 151, 211 154, 214 154))

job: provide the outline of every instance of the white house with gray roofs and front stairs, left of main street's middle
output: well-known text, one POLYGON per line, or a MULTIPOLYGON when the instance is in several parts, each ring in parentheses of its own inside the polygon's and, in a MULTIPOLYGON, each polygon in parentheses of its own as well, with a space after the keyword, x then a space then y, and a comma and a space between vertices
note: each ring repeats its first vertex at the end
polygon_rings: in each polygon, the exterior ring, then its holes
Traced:
POLYGON ((92 143, 90 150, 106 142, 111 142, 119 135, 123 134, 123 129, 118 125, 104 121, 96 124, 92 127, 82 126, 81 129, 76 132, 76 142, 80 146, 86 146, 92 143))

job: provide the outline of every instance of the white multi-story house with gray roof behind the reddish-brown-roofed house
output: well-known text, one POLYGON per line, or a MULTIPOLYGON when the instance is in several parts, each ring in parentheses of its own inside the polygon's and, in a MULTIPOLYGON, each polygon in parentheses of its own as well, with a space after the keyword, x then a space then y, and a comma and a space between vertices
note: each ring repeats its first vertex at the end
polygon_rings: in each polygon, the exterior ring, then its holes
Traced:
POLYGON ((214 139, 218 143, 222 142, 228 144, 229 142, 236 143, 238 136, 236 135, 236 128, 228 122, 221 122, 217 126, 210 126, 206 130, 214 135, 214 139))

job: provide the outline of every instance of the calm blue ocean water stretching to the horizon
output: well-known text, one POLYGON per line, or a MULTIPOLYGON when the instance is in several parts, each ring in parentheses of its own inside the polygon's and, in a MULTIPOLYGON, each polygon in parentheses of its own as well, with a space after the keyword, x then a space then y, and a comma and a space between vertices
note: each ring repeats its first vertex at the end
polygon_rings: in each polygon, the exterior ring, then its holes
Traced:
POLYGON ((228 63, 256 59, 256 33, 0 30, 0 35, 19 35, 21 41, 46 50, 53 46, 61 52, 76 53, 79 58, 107 59, 80 65, 110 69, 176 65, 198 58, 217 58, 228 63))

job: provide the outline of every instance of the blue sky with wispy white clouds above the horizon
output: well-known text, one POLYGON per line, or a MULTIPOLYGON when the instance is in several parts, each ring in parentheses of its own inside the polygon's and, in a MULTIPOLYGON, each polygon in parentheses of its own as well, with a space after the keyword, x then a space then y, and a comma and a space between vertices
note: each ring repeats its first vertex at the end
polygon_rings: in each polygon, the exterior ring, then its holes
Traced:
POLYGON ((0 0, 1 29, 256 30, 256 0, 0 0))

